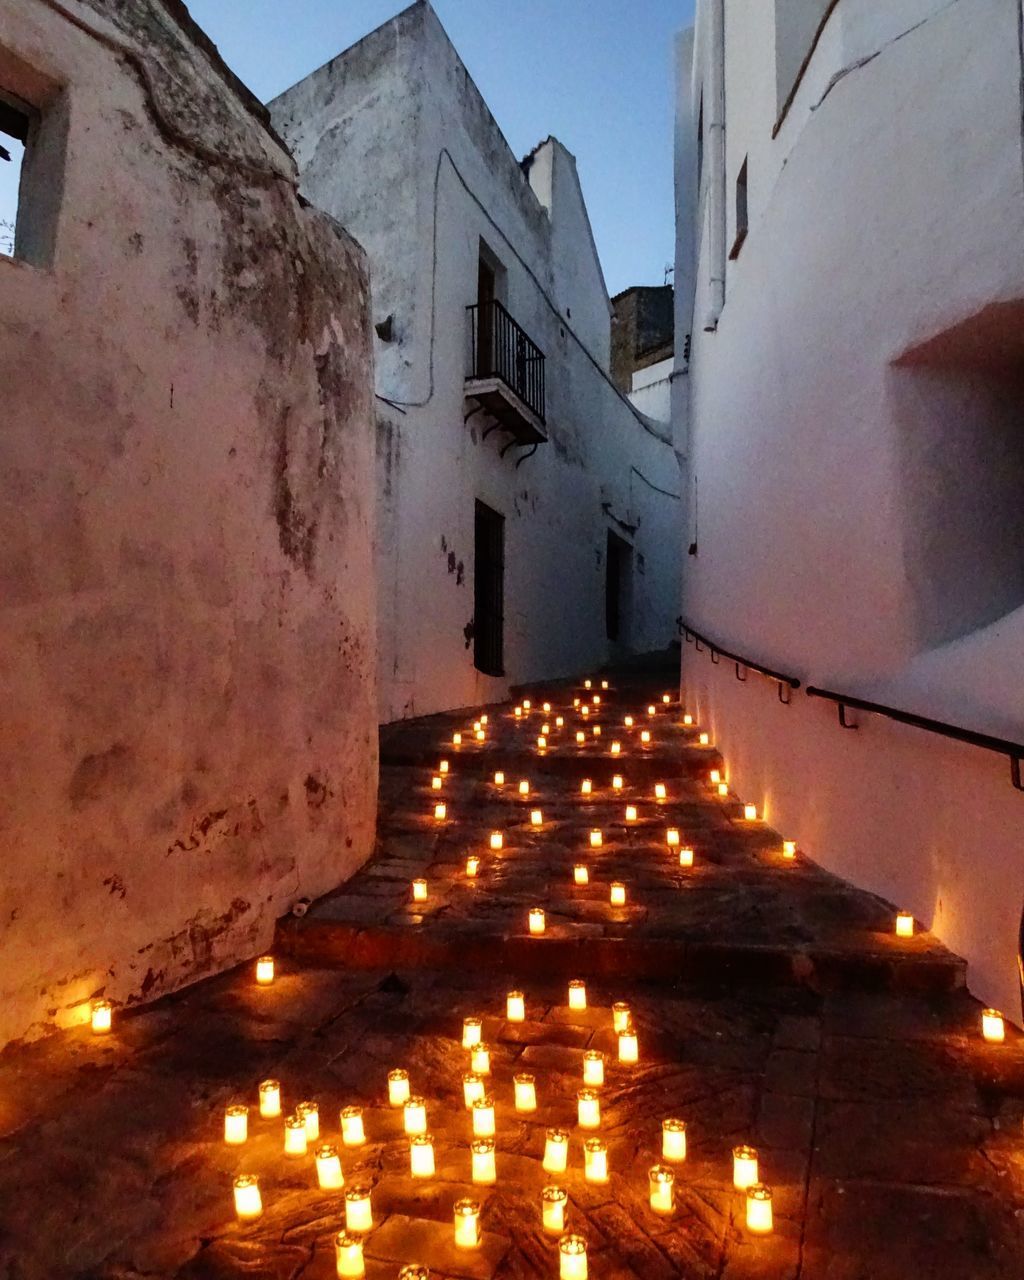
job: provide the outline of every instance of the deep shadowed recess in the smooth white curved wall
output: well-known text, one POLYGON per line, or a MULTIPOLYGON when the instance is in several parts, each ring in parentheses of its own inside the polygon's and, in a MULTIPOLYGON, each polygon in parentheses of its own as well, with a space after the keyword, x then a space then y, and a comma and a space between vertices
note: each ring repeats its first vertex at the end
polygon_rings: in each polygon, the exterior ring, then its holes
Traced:
POLYGON ((888 372, 904 566, 932 649, 1024 604, 1024 303, 998 303, 888 372))

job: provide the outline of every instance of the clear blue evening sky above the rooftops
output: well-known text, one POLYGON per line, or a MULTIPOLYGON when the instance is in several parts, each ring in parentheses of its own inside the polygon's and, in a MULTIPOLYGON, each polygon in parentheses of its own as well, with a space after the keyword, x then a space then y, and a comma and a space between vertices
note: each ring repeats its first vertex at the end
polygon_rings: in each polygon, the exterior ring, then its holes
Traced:
MULTIPOLYGON (((264 101, 402 8, 401 0, 189 3, 264 101)), ((675 243, 672 36, 692 22, 694 0, 434 0, 434 8, 512 150, 525 155, 554 133, 576 155, 609 292, 660 284, 675 243)), ((8 168, 0 164, 0 219, 12 198, 8 168)))

